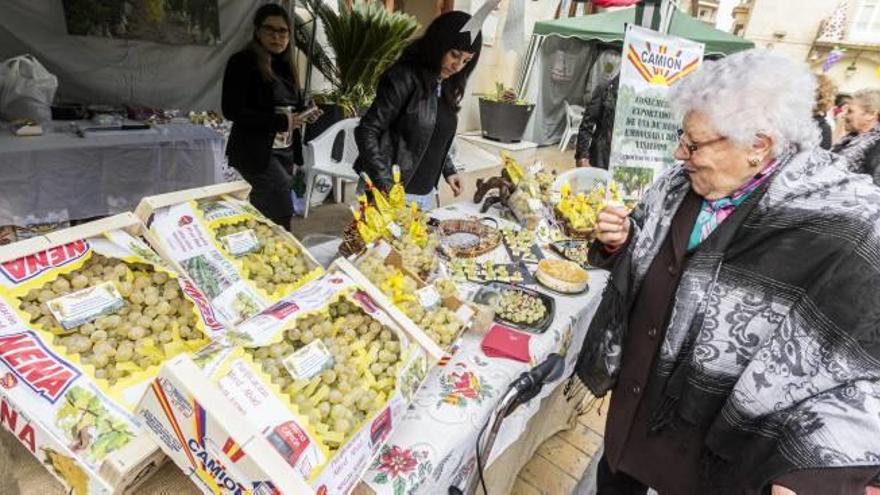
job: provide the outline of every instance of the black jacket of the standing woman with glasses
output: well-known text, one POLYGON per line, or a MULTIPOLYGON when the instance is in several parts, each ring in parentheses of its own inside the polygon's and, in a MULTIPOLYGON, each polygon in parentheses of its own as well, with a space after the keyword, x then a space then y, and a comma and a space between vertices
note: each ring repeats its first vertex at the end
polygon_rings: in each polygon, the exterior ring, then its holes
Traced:
POLYGON ((232 121, 226 155, 235 168, 261 172, 269 164, 276 132, 287 130, 287 117, 275 113, 275 81, 264 81, 254 52, 229 58, 223 74, 223 115, 232 121))

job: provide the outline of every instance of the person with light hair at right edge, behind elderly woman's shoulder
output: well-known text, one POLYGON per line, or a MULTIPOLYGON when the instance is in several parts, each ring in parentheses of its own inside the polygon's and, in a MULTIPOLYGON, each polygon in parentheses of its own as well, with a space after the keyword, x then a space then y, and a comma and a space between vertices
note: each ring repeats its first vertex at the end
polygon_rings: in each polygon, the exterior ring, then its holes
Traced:
POLYGON ((880 184, 880 89, 857 91, 845 119, 847 135, 832 151, 843 156, 849 169, 868 174, 880 184))

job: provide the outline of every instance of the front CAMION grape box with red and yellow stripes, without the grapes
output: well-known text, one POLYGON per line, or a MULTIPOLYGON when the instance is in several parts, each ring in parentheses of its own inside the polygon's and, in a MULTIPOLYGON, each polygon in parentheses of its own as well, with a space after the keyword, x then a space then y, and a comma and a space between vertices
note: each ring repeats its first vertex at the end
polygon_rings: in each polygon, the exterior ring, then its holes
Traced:
MULTIPOLYGON (((408 338, 387 309, 346 273, 331 270, 243 322, 234 339, 241 346, 215 345, 195 360, 180 356, 168 362, 138 413, 165 453, 203 493, 348 493, 401 420, 427 373, 425 350, 408 338), (264 361, 258 361, 258 352, 277 345, 285 332, 301 328, 304 319, 340 296, 392 330, 406 352, 390 382, 393 393, 366 399, 376 401, 371 414, 339 437, 345 440, 338 450, 328 451, 322 440, 335 432, 322 430, 320 421, 296 405, 299 399, 326 396, 321 393, 326 383, 322 376, 317 375, 317 382, 306 379, 305 388, 294 379, 282 389, 278 379, 273 382, 267 374, 264 361)), ((373 375, 362 376, 357 387, 367 390, 373 375)), ((383 380, 390 378, 379 379, 383 380)))

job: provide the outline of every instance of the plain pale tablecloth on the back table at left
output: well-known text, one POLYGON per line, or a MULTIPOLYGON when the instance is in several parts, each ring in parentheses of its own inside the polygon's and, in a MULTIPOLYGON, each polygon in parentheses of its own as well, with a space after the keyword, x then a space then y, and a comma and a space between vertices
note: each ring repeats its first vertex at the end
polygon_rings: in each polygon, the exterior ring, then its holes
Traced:
POLYGON ((223 137, 204 126, 89 133, 70 123, 16 137, 0 129, 0 225, 60 222, 133 210, 144 196, 223 180, 223 137))

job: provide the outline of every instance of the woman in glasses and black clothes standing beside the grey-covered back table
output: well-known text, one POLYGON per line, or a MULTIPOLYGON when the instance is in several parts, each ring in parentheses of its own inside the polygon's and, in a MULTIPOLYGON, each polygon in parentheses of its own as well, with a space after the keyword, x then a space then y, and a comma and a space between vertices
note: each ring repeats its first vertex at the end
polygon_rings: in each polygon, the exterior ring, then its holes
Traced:
POLYGON ((229 164, 251 185, 254 207, 288 230, 293 216, 292 168, 302 163, 300 129, 320 114, 296 113, 304 104, 291 29, 290 17, 280 5, 257 9, 253 38, 226 64, 222 99, 223 114, 232 121, 226 146, 229 164))

